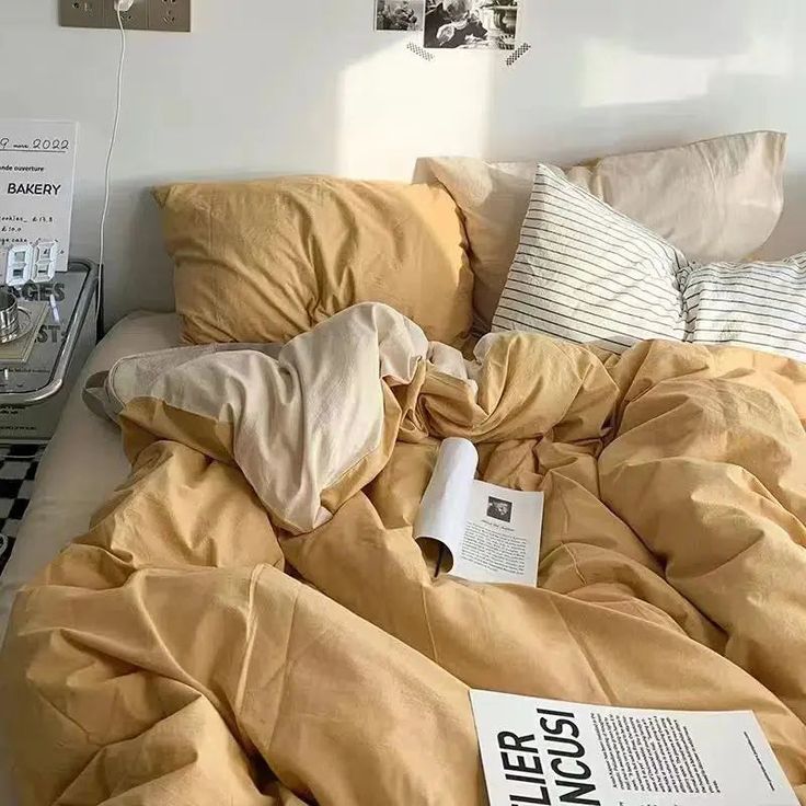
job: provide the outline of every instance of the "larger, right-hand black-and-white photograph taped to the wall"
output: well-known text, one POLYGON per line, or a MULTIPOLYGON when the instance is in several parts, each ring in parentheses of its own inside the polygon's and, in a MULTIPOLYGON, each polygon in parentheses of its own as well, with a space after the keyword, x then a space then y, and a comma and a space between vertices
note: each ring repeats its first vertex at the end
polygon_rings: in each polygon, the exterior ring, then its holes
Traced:
POLYGON ((514 50, 518 0, 426 0, 425 46, 514 50))

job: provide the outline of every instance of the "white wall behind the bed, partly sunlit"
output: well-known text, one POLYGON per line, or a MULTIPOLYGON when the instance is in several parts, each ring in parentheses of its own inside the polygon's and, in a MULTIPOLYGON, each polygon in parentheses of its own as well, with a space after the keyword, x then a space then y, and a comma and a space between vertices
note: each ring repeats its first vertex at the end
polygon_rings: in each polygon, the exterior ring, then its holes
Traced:
MULTIPOLYGON (((189 36, 133 33, 115 163, 108 318, 171 303, 147 188, 330 172, 408 179, 417 156, 573 161, 727 131, 791 134, 768 249, 806 249, 803 0, 521 0, 515 67, 371 32, 372 0, 194 0, 189 36)), ((72 253, 95 256, 118 38, 0 0, 0 115, 81 124, 72 253)))

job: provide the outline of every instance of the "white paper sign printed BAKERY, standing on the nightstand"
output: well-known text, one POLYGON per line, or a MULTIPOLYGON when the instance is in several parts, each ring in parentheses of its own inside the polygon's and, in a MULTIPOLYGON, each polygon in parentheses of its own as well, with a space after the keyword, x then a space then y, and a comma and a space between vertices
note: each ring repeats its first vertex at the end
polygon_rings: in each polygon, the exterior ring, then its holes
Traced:
POLYGON ((0 120, 0 246, 58 241, 67 272, 78 125, 0 120))

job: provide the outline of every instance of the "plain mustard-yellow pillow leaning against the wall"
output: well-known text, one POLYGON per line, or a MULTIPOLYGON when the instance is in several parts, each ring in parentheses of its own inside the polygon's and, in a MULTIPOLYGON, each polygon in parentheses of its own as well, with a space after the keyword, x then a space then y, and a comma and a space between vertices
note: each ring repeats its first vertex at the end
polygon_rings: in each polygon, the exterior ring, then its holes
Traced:
POLYGON ((434 341, 470 331, 473 275, 439 185, 292 176, 158 188, 184 337, 286 342, 356 302, 434 341))

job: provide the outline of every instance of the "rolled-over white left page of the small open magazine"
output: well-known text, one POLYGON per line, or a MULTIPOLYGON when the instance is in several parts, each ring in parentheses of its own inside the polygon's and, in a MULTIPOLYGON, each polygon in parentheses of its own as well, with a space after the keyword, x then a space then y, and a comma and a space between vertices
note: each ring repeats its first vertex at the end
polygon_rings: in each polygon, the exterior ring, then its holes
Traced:
POLYGON ((414 523, 415 540, 434 540, 448 549, 442 571, 450 571, 459 556, 477 467, 479 453, 469 439, 442 441, 414 523))

